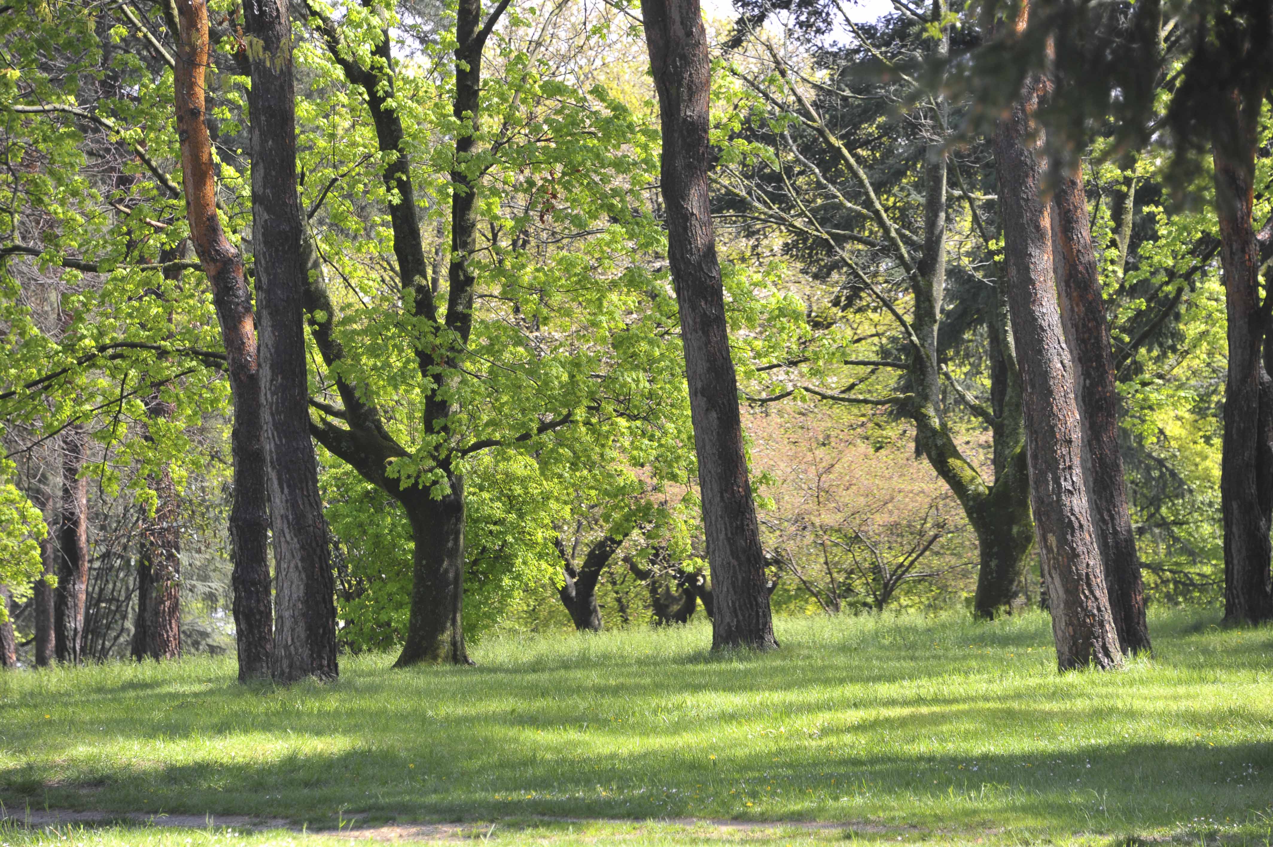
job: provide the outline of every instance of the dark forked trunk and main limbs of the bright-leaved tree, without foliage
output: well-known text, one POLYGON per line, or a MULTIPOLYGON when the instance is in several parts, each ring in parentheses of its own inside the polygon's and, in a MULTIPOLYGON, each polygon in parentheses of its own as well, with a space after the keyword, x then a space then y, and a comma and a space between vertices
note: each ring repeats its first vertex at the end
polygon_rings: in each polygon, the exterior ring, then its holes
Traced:
MULTIPOLYGON (((456 9, 454 97, 452 113, 457 121, 454 159, 451 172, 451 265, 448 270, 447 307, 439 315, 434 285, 429 283, 430 262, 420 237, 419 209, 411 185, 411 159, 406 148, 402 117, 393 102, 395 61, 388 29, 381 32, 373 47, 372 66, 364 68, 348 50, 336 23, 321 9, 309 5, 327 48, 345 79, 367 96, 367 104, 376 127, 379 150, 390 158, 383 180, 390 200, 393 228, 393 253, 401 279, 402 301, 415 321, 426 327, 416 344, 420 376, 432 388, 424 400, 424 431, 438 437, 432 451, 433 471, 439 478, 439 490, 421 479, 395 473, 392 465, 407 459, 407 451, 384 428, 381 410, 368 392, 340 373, 344 346, 332 334, 335 307, 327 293, 317 255, 309 274, 306 310, 316 345, 335 378, 344 402, 340 416, 348 428, 332 423, 316 424, 314 438, 332 453, 358 470, 405 508, 414 540, 414 573, 411 611, 407 633, 397 666, 421 662, 471 664, 463 638, 463 571, 465 571, 465 480, 456 462, 466 452, 454 442, 451 431, 458 411, 456 381, 463 346, 472 331, 474 289, 476 278, 471 267, 476 251, 477 218, 475 211, 479 180, 472 171, 474 138, 481 118, 482 51, 499 22, 508 0, 500 3, 482 20, 480 0, 461 0, 456 9), (424 336, 435 339, 428 344, 424 336), (336 364, 336 368, 332 366, 336 364)), ((440 285, 437 285, 440 288, 440 285)), ((560 425, 556 424, 556 425, 560 425)))

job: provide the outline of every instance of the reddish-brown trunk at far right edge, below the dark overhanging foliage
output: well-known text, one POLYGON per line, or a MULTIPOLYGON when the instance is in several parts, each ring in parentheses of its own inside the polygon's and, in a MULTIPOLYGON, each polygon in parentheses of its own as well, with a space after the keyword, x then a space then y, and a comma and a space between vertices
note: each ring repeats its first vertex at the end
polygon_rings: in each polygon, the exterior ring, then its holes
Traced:
MULTIPOLYGON (((1269 380, 1260 346, 1268 316, 1260 306, 1259 251, 1251 222, 1258 118, 1263 97, 1235 90, 1217 108, 1213 130, 1216 215, 1228 316, 1228 378, 1225 383, 1225 452, 1220 497, 1225 516, 1225 619, 1273 619, 1269 581, 1269 409, 1260 387, 1269 380)), ((1273 394, 1273 392, 1270 392, 1273 394)))

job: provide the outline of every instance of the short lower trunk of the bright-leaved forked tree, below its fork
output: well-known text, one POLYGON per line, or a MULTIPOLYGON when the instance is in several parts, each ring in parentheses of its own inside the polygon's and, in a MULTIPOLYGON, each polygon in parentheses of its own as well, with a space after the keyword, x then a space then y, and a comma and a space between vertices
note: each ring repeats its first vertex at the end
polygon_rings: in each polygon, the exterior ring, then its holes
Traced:
POLYGON ((451 479, 451 490, 434 499, 428 490, 414 489, 402 498, 415 543, 411 582, 410 637, 395 666, 421 662, 468 661, 461 615, 465 595, 465 483, 451 479))

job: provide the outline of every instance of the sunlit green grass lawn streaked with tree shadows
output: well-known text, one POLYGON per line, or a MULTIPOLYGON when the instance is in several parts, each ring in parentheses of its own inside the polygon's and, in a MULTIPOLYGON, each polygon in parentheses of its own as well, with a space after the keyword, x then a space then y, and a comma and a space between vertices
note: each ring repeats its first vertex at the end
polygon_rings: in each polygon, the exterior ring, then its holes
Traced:
MULTIPOLYGON (((504 843, 1268 846, 1273 628, 1214 623, 1155 614, 1153 657, 1106 674, 1058 675, 1041 614, 787 619, 769 655, 712 655, 701 625, 507 636, 476 646, 477 667, 345 657, 339 683, 292 688, 241 687, 232 658, 10 673, 0 800, 309 829, 465 822, 398 834, 504 843)), ((0 827, 13 844, 61 838, 350 843, 0 827)))

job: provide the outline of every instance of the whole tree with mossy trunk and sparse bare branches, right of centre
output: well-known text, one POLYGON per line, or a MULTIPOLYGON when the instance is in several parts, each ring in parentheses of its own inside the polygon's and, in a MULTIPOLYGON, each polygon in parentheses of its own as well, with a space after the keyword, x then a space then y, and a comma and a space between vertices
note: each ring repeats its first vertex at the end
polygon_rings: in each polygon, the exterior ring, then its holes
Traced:
MULTIPOLYGON (((840 6, 857 43, 843 51, 820 47, 808 56, 789 55, 798 43, 794 36, 780 51, 757 34, 764 55, 757 61, 740 50, 731 70, 766 106, 764 121, 740 132, 740 140, 751 136, 771 146, 754 162, 722 157, 717 185, 737 218, 784 231, 791 252, 810 266, 815 280, 830 267, 844 274, 835 280, 830 303, 816 312, 811 306, 806 324, 821 330, 801 338, 785 362, 757 368, 757 377, 766 374, 759 378, 784 380, 782 390, 749 399, 774 402, 801 391, 848 408, 887 406, 914 422, 917 451, 950 487, 976 532, 974 614, 993 618, 1022 601, 1034 530, 1007 306, 1002 288, 978 267, 993 266, 990 233, 970 194, 976 181, 964 178, 947 150, 951 112, 965 104, 939 93, 927 96, 905 70, 948 50, 945 29, 936 41, 924 36, 924 27, 941 22, 945 9, 938 3, 925 20, 895 19, 872 28, 854 23, 840 6), (813 70, 796 64, 802 59, 831 68, 835 84, 812 78, 813 70), (904 120, 892 116, 900 110, 904 120), (960 214, 960 201, 967 218, 960 214), (951 218, 961 224, 957 229, 951 218), (981 242, 983 261, 951 261, 947 242, 969 238, 981 242), (959 285, 953 290, 952 274, 959 285), (877 331, 858 331, 854 318, 869 322, 869 310, 878 310, 896 335, 878 341, 877 331), (953 348, 965 334, 980 348, 970 358, 988 363, 988 402, 975 400, 951 373, 957 367, 953 348), (881 372, 900 377, 881 386, 881 372), (821 385, 797 382, 805 374, 821 385), (835 387, 834 381, 847 386, 835 387), (952 425, 959 405, 992 433, 993 478, 959 443, 952 425)), ((969 159, 975 168, 976 158, 969 159)))

